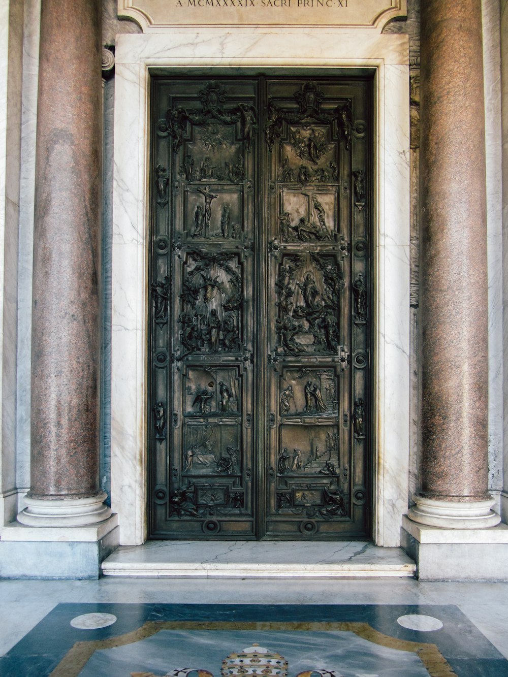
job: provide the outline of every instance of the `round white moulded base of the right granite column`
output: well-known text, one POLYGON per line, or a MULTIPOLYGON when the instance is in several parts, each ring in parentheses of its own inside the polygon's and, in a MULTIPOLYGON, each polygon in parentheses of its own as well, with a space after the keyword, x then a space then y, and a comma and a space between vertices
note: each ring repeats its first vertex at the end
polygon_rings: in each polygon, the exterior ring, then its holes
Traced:
POLYGON ((482 501, 438 501, 423 496, 412 497, 415 506, 408 510, 413 522, 441 529, 487 529, 501 522, 492 506, 495 501, 488 498, 482 501))

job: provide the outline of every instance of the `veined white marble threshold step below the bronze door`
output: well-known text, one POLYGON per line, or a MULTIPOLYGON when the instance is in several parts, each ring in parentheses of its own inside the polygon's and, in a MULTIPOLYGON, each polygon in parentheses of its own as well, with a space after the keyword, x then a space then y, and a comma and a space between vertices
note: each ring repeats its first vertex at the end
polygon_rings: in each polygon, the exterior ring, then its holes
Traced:
POLYGON ((412 577, 416 568, 401 548, 364 541, 148 541, 102 563, 105 576, 195 578, 412 577))

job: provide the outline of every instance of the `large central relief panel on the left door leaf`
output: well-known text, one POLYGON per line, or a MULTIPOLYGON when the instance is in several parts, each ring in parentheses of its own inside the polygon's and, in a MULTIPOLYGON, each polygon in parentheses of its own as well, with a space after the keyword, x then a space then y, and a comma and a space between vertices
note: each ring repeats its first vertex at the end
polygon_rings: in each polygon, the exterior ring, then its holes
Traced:
POLYGON ((194 266, 188 261, 178 318, 184 354, 238 350, 243 303, 238 255, 194 251, 188 257, 194 266))

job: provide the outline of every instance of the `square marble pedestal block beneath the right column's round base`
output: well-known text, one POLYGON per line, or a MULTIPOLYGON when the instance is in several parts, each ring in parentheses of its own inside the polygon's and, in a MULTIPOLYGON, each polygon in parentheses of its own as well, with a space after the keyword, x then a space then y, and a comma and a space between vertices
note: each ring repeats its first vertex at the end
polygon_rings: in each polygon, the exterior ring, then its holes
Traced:
POLYGON ((420 581, 508 581, 508 526, 438 529, 402 517, 401 547, 420 581))

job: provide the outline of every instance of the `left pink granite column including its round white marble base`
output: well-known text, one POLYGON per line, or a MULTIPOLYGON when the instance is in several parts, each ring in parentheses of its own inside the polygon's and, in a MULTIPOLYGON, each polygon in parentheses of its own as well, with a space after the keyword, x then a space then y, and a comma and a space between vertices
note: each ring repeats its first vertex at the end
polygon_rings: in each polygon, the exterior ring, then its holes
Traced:
POLYGON ((85 525, 99 487, 101 3, 43 0, 37 110, 29 525, 85 525))

